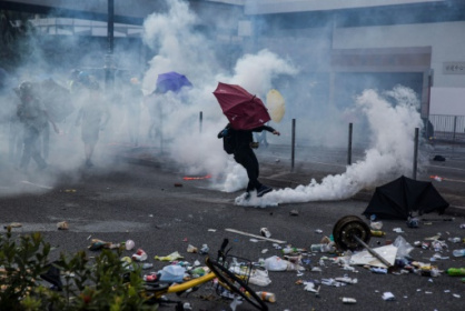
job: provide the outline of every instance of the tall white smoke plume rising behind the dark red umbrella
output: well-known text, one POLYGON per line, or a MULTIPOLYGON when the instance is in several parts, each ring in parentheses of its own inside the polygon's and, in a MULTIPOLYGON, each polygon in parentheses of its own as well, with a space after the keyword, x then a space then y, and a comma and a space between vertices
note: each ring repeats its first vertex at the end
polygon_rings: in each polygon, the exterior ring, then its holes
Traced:
POLYGON ((230 73, 221 68, 216 57, 225 57, 227 51, 212 47, 211 39, 192 31, 197 17, 189 11, 188 3, 170 1, 169 6, 167 13, 151 14, 145 22, 145 41, 157 50, 144 78, 145 93, 151 94, 158 74, 169 71, 185 74, 194 88, 148 97, 147 106, 151 107, 157 134, 169 141, 164 151, 186 173, 207 172, 220 177, 228 172, 226 185, 215 187, 228 191, 240 189, 247 183, 246 174, 224 152, 222 142, 217 139, 217 133, 228 121, 212 91, 220 81, 240 84, 249 92, 264 97, 271 89, 275 77, 295 74, 297 69, 271 51, 261 50, 243 56, 230 73), (204 116, 201 131, 199 112, 204 116))

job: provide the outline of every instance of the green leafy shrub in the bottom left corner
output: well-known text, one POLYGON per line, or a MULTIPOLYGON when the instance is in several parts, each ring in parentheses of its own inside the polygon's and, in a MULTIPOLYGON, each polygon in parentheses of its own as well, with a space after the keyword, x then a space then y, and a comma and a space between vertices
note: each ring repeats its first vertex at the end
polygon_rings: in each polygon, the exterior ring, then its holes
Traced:
POLYGON ((102 250, 92 261, 86 251, 65 253, 49 261, 51 247, 40 233, 12 239, 11 229, 0 235, 0 310, 11 311, 126 311, 157 310, 145 304, 140 268, 121 263, 121 250, 102 250), (62 291, 52 290, 43 274, 61 271, 62 291), (42 275, 42 277, 41 277, 42 275))

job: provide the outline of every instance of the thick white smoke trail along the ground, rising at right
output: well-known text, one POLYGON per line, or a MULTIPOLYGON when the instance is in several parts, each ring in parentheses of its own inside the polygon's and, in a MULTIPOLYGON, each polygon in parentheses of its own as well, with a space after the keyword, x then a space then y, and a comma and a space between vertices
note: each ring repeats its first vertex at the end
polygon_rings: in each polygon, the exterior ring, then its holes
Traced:
POLYGON ((276 205, 309 201, 343 200, 350 198, 364 188, 373 188, 412 172, 415 128, 423 128, 417 111, 419 101, 413 90, 396 87, 378 94, 365 90, 356 106, 366 116, 373 132, 373 147, 365 151, 365 159, 347 167, 346 172, 325 177, 320 183, 314 179, 307 185, 273 191, 265 197, 244 200, 236 199, 240 205, 276 205), (389 102, 389 99, 393 102, 389 102))

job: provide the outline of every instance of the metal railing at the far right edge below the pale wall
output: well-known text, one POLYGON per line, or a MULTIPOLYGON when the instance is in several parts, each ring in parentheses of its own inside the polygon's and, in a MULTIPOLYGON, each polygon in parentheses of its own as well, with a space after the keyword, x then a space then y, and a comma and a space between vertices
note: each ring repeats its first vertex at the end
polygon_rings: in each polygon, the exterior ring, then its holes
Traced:
POLYGON ((432 127, 426 127, 428 138, 465 143, 465 116, 429 114, 432 127))

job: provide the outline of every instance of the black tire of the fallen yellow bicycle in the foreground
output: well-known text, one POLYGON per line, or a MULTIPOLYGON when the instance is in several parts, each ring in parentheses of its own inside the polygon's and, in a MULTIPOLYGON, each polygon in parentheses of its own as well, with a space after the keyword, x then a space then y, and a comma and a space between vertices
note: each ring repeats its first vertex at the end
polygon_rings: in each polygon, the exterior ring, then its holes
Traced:
POLYGON ((253 289, 249 288, 249 285, 246 284, 245 281, 237 278, 236 274, 210 258, 207 258, 205 263, 221 282, 229 287, 233 292, 239 294, 258 310, 268 311, 268 305, 265 304, 265 302, 255 293, 253 289), (244 289, 249 294, 247 295, 240 289, 244 289))

